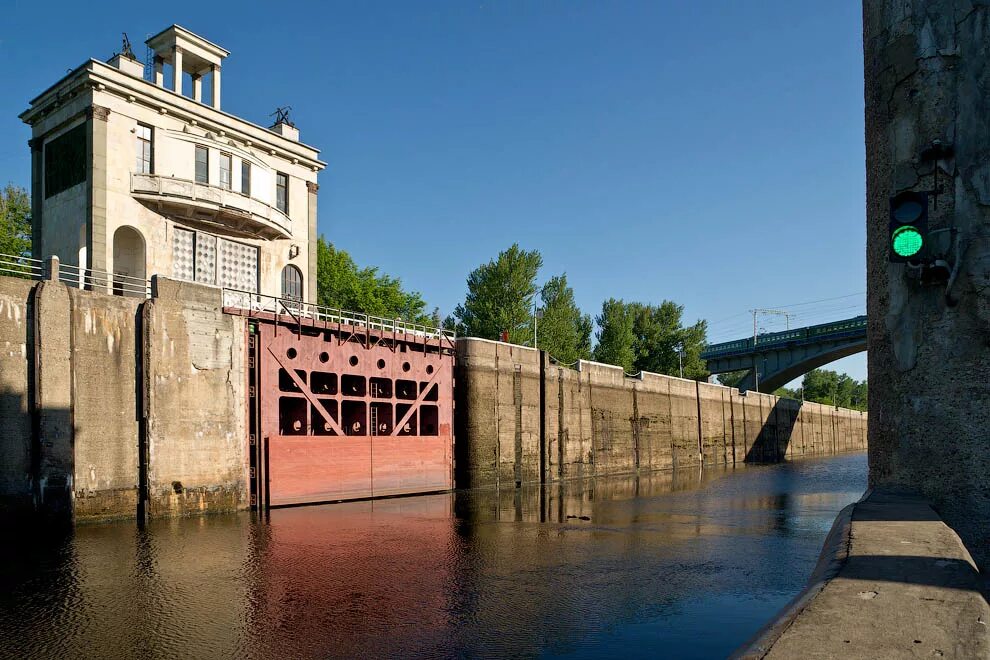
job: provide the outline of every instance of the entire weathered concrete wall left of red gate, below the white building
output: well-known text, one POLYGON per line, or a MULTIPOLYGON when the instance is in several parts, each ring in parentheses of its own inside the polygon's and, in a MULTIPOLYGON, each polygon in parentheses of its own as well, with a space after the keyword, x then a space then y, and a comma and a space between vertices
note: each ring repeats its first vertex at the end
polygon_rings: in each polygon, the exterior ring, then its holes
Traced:
POLYGON ((0 512, 247 506, 244 320, 216 288, 155 296, 0 277, 0 512))

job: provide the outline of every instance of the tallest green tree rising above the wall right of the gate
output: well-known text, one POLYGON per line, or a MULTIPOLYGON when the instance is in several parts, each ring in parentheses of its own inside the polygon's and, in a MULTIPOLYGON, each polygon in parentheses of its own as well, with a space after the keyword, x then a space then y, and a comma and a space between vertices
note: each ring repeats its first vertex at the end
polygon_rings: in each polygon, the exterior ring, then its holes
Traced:
POLYGON ((471 271, 464 304, 454 310, 454 321, 463 328, 463 334, 498 339, 507 330, 513 343, 532 342, 533 297, 542 265, 539 252, 527 252, 514 243, 496 259, 471 271))

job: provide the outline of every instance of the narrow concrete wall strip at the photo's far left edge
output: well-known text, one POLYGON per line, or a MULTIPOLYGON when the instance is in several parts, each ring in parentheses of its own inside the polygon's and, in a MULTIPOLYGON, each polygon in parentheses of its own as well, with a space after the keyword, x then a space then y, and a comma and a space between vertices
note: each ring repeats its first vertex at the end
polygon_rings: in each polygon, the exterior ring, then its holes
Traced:
POLYGON ((31 507, 33 288, 0 277, 0 512, 31 507))

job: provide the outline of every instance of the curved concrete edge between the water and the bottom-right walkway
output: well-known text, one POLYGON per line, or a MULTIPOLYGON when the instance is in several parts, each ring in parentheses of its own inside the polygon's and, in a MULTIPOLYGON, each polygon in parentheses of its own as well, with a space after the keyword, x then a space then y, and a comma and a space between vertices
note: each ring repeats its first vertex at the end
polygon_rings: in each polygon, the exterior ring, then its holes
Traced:
POLYGON ((815 569, 811 572, 811 577, 808 578, 808 584, 805 585, 801 593, 791 599, 787 605, 784 605, 768 624, 760 628, 746 643, 736 649, 729 656, 732 660, 758 660, 769 653, 770 648, 790 628, 801 612, 818 597, 825 585, 839 574, 842 565, 849 558, 853 511, 856 510, 856 505, 865 501, 872 492, 872 489, 868 489, 858 501, 839 511, 835 522, 832 523, 832 529, 825 537, 825 543, 822 544, 818 563, 815 564, 815 569))

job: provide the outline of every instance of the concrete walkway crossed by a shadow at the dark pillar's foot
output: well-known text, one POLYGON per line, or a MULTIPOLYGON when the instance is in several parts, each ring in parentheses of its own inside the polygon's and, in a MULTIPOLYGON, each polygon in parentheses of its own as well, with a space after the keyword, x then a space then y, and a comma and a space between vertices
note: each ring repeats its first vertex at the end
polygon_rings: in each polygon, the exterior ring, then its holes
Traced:
POLYGON ((840 513, 808 588, 744 658, 990 658, 987 581, 921 498, 840 513))

